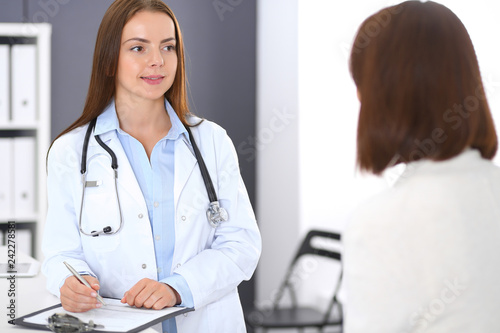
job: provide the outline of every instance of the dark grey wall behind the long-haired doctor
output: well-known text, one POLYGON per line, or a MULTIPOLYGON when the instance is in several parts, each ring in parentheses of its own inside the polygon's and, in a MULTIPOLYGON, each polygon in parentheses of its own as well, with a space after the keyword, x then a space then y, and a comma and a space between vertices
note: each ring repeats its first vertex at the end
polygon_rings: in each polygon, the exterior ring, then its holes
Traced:
MULTIPOLYGON (((0 22, 52 24, 52 138, 82 112, 95 38, 112 0, 0 0, 0 22)), ((255 0, 167 0, 183 32, 192 112, 223 126, 236 147, 255 133, 255 0), (217 5, 217 8, 215 5, 217 5)), ((255 202, 255 161, 240 152, 255 202)), ((244 305, 253 283, 240 289, 244 305)))

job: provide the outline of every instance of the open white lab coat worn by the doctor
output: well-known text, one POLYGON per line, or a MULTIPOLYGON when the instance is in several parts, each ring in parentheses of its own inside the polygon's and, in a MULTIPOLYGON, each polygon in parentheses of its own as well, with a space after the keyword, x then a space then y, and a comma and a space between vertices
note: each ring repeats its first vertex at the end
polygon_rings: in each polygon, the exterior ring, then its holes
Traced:
MULTIPOLYGON (((196 123, 199 119, 191 119, 196 123)), ((80 163, 87 126, 54 142, 48 159, 49 208, 42 267, 50 292, 69 276, 66 260, 77 271, 98 277, 101 295, 121 298, 142 278, 157 279, 155 250, 148 210, 131 165, 116 132, 101 139, 118 159, 118 194, 123 227, 115 235, 80 235, 78 219, 82 198, 80 163)), ((236 151, 226 132, 204 121, 192 128, 221 206, 229 220, 217 229, 206 216, 207 191, 187 136, 175 143, 175 250, 172 273, 184 277, 193 295, 195 311, 176 318, 179 333, 245 332, 237 286, 252 276, 261 238, 240 176, 236 151)), ((88 187, 82 210, 85 232, 119 226, 118 205, 109 154, 91 136, 87 155, 88 187)))

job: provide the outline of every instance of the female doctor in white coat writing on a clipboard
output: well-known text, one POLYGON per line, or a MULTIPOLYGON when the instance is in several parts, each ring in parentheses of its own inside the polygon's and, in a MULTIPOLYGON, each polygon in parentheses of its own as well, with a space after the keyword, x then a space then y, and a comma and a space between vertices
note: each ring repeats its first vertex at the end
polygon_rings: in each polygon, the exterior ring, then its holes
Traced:
POLYGON ((83 113, 48 154, 48 198, 42 270, 66 310, 99 308, 99 291, 195 308, 163 332, 245 332, 237 286, 260 234, 231 140, 188 110, 182 36, 161 0, 105 13, 83 113))

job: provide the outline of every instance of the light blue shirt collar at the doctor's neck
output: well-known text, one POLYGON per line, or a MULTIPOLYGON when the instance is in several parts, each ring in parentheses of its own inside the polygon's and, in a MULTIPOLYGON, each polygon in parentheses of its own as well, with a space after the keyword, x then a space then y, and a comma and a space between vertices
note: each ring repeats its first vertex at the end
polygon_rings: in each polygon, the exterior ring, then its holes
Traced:
MULTIPOLYGON (((187 137, 187 131, 181 120, 175 113, 174 109, 170 103, 165 99, 165 109, 167 110, 168 116, 170 117, 170 122, 172 127, 165 136, 166 139, 177 140, 181 134, 187 137)), ((118 115, 116 114, 116 106, 114 99, 109 103, 109 105, 104 109, 103 113, 97 117, 97 122, 95 126, 95 135, 101 135, 110 131, 119 131, 120 122, 118 121, 118 115)))

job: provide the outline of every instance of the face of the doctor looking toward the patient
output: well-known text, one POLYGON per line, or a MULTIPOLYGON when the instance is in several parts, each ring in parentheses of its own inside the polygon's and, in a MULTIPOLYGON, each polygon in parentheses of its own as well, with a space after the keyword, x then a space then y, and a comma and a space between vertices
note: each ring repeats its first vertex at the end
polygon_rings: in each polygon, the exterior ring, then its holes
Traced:
POLYGON ((177 70, 175 47, 175 25, 167 14, 135 14, 123 27, 116 98, 163 100, 177 70))

